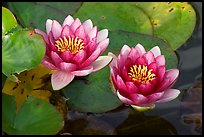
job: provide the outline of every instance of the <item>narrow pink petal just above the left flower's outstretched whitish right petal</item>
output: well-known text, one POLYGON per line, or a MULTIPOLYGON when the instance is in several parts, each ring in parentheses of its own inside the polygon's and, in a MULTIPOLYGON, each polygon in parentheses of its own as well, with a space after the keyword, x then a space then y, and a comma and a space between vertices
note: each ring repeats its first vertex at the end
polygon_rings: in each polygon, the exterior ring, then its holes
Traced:
POLYGON ((89 64, 91 64, 92 62, 94 62, 98 56, 100 55, 101 53, 101 49, 98 48, 96 49, 93 54, 87 59, 85 60, 82 64, 81 64, 81 67, 85 67, 85 66, 88 66, 89 64))

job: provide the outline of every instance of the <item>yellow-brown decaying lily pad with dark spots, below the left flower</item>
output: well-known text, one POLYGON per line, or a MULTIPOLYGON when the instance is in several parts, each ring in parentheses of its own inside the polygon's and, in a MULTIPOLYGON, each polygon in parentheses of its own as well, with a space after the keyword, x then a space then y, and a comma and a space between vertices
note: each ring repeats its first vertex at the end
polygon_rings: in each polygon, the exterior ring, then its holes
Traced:
POLYGON ((2 92, 15 96, 17 110, 23 105, 28 96, 34 96, 49 102, 51 92, 45 86, 50 83, 50 73, 50 69, 39 65, 35 69, 24 71, 17 75, 21 81, 20 83, 13 82, 7 78, 2 92))

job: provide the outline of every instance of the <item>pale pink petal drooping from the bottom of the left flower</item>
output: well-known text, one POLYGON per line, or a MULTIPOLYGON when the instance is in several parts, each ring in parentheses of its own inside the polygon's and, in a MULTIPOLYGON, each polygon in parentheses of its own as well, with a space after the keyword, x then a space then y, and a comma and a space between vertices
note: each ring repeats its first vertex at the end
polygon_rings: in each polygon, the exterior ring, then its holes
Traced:
POLYGON ((60 90, 74 79, 74 75, 64 71, 57 71, 51 76, 53 90, 60 90))

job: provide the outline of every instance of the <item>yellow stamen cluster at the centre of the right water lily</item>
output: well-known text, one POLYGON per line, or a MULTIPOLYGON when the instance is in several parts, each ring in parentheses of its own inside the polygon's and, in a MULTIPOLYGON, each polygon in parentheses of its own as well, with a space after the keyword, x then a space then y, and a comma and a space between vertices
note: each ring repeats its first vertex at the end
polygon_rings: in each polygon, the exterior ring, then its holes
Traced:
POLYGON ((141 83, 146 83, 152 81, 155 78, 155 74, 152 73, 153 69, 148 70, 145 65, 133 65, 130 67, 130 72, 128 75, 133 81, 138 81, 141 83))

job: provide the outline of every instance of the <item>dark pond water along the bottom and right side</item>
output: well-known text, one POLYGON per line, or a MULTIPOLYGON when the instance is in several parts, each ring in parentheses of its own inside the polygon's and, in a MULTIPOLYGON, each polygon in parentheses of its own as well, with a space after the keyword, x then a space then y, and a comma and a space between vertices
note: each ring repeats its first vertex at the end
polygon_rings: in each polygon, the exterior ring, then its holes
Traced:
POLYGON ((192 4, 198 19, 195 31, 176 51, 180 75, 174 88, 181 90, 177 99, 140 113, 128 106, 103 114, 69 110, 67 124, 59 134, 202 134, 202 3, 192 4))

